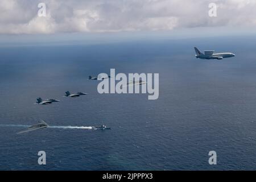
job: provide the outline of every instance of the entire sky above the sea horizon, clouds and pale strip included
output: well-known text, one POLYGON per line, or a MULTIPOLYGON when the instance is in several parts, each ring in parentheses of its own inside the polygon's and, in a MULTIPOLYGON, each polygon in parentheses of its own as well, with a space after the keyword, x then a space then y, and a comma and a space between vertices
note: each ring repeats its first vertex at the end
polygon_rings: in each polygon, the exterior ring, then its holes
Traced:
POLYGON ((0 0, 0 43, 253 34, 255 8, 256 0, 0 0))

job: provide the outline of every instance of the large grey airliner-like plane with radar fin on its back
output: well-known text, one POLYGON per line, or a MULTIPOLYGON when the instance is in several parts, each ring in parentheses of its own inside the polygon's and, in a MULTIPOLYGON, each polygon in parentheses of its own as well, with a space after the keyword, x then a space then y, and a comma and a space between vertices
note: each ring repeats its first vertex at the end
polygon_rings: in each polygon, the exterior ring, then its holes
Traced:
POLYGON ((231 52, 225 52, 225 53, 214 53, 214 51, 204 51, 204 53, 201 53, 199 49, 195 47, 196 51, 196 58, 200 59, 217 59, 217 60, 222 60, 223 58, 226 57, 234 57, 234 53, 231 52))

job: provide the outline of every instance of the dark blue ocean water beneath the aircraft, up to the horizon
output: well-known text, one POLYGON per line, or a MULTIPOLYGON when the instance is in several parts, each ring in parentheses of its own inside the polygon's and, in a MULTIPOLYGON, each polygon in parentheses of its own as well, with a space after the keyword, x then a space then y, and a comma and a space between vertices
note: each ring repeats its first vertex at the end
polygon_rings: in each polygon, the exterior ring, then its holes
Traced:
POLYGON ((0 48, 0 169, 255 169, 256 39, 205 38, 87 46, 0 48), (222 61, 195 58, 193 46, 230 51, 222 61), (89 75, 159 73, 159 99, 98 94, 89 75), (86 92, 64 98, 65 91, 86 92), (59 103, 34 105, 36 98, 59 103), (44 119, 51 126, 17 135, 44 119), (38 151, 47 165, 38 165, 38 151), (208 152, 217 152, 217 165, 208 152))

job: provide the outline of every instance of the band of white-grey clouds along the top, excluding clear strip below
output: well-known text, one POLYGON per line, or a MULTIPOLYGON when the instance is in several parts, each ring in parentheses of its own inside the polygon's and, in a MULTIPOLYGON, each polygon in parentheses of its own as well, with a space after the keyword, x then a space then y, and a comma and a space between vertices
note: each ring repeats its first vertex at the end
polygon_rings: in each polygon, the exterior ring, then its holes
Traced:
POLYGON ((1 0, 0 34, 158 31, 255 26, 256 0, 1 0), (46 3, 46 17, 38 4, 46 3), (217 17, 208 16, 216 3, 217 17))

